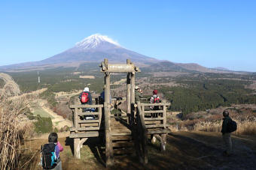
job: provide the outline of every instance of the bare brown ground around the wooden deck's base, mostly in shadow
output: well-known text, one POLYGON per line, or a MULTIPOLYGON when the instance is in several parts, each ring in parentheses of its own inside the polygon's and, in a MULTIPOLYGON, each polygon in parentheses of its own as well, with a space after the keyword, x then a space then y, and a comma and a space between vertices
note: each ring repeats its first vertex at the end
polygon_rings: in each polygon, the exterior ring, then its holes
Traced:
MULTIPOLYGON (((77 160, 72 155, 72 140, 67 138, 68 134, 61 133, 59 136, 64 146, 60 156, 62 169, 105 169, 104 158, 102 160, 99 157, 96 139, 88 139, 81 148, 81 160, 77 160)), ((116 159, 111 169, 255 169, 255 140, 251 136, 233 136, 234 154, 232 157, 224 157, 220 133, 175 132, 167 137, 166 153, 160 153, 158 142, 148 144, 146 166, 140 164, 133 154, 116 159)), ((44 142, 47 139, 32 140, 26 144, 35 149, 44 142)))

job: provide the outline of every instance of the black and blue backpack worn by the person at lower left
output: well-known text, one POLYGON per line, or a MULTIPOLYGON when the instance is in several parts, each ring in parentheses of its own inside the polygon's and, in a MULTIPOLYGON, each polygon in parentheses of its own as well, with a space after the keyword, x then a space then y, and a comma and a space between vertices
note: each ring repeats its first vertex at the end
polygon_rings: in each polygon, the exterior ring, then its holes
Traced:
POLYGON ((55 144, 41 145, 41 166, 43 169, 54 169, 56 166, 55 144))

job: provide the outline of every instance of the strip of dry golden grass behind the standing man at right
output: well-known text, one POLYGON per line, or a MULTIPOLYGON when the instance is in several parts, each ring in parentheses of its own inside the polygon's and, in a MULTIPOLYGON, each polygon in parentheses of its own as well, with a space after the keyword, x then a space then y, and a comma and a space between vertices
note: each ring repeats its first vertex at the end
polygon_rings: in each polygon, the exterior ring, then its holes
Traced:
MULTIPOLYGON (((235 105, 229 108, 230 118, 236 121, 237 130, 233 134, 256 135, 256 106, 235 105)), ((169 129, 172 131, 205 131, 221 132, 222 112, 227 108, 212 109, 209 113, 197 112, 186 115, 186 120, 181 121, 177 116, 169 116, 169 129)))

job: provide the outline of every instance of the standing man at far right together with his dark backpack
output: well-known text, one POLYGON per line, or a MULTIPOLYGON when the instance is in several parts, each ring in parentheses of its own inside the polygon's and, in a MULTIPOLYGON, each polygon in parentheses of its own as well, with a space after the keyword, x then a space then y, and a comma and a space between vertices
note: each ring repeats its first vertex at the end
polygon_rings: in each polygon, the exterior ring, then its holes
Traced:
POLYGON ((231 142, 231 133, 236 131, 236 122, 233 121, 230 116, 229 112, 227 110, 224 110, 223 112, 223 122, 222 122, 222 138, 224 140, 225 148, 224 156, 230 156, 232 152, 232 142, 231 142))

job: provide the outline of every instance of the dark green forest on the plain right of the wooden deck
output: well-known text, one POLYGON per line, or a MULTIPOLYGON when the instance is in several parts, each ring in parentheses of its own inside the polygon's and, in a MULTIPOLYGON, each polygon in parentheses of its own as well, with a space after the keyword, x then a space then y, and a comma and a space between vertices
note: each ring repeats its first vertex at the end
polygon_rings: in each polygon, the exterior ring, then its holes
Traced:
POLYGON ((256 103, 253 90, 245 88, 251 82, 230 79, 178 80, 182 86, 159 89, 172 103, 172 111, 205 111, 231 104, 256 103))

